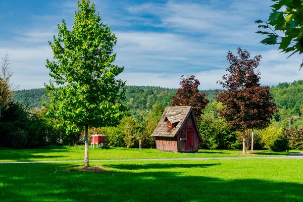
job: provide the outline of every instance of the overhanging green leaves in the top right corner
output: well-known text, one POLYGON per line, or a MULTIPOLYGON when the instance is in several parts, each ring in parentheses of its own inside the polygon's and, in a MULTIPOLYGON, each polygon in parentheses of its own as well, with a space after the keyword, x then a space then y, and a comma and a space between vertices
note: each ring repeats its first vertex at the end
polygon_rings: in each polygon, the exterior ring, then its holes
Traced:
MULTIPOLYGON (((257 20, 258 27, 267 31, 257 33, 267 35, 261 41, 266 45, 279 44, 279 49, 284 53, 303 53, 303 2, 301 0, 272 0, 267 21, 257 20), (281 34, 280 34, 281 33, 281 34)), ((289 57, 290 57, 289 56, 289 57)), ((300 69, 303 67, 303 62, 300 69)))

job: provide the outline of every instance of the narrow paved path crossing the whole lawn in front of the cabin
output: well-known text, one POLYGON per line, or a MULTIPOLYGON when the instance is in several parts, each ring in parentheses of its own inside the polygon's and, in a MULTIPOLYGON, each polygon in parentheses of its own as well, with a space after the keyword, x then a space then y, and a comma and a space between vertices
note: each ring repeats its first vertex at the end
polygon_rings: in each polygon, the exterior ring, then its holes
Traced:
MULTIPOLYGON (((100 159, 89 160, 90 162, 102 161, 174 161, 174 160, 209 160, 209 159, 303 159, 303 153, 291 154, 284 157, 214 157, 214 158, 174 158, 174 159, 100 159)), ((1 162, 0 164, 32 164, 32 163, 60 163, 60 162, 83 162, 84 160, 66 161, 31 161, 31 162, 1 162)))

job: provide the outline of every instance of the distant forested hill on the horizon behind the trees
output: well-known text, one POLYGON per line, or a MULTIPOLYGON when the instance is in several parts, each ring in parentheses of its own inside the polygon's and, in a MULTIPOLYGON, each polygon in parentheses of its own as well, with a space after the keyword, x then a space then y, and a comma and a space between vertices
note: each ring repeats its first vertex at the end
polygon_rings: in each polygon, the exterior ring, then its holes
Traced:
MULTIPOLYGON (((125 99, 123 102, 128 106, 134 116, 139 116, 143 111, 150 110, 153 105, 161 103, 169 106, 176 88, 163 88, 157 86, 126 86, 125 99)), ((216 90, 203 90, 208 94, 210 102, 214 101, 216 90)), ((279 83, 271 87, 274 102, 280 109, 290 111, 293 115, 303 113, 303 80, 292 83, 279 83)), ((17 90, 14 100, 30 107, 40 108, 41 97, 45 94, 44 88, 30 90, 17 90)), ((47 97, 45 97, 47 101, 47 97)))

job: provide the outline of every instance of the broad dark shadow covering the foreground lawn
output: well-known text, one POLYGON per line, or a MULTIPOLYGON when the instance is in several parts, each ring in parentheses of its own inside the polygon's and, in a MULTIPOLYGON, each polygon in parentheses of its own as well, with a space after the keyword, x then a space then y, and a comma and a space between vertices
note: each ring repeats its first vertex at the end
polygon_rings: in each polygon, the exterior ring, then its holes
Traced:
MULTIPOLYGON (((186 164, 165 164, 167 168, 186 164)), ((214 164, 216 165, 216 164, 214 164)), ((117 165, 106 165, 114 168, 117 165)), ((132 165, 134 166, 134 165, 132 165)), ((155 164, 155 166, 160 166, 155 164)), ((199 172, 211 167, 205 164, 199 172)), ((68 164, 0 165, 1 201, 302 201, 303 184, 188 173, 72 171, 68 164), (33 172, 33 170, 35 172, 33 172), (4 172, 6 171, 6 172, 4 172)), ((195 168, 190 164, 190 168, 195 168)), ((150 168, 153 168, 150 166, 150 168)), ((122 167, 123 169, 123 167, 122 167)), ((127 170, 127 169, 124 169, 127 170)))

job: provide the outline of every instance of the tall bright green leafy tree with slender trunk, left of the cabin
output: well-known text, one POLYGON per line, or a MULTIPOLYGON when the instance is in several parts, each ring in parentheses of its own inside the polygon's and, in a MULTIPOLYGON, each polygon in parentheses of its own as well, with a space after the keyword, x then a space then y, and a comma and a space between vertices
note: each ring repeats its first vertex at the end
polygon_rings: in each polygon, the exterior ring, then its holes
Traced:
POLYGON ((44 84, 49 97, 48 115, 59 119, 67 130, 85 128, 84 165, 88 166, 88 126, 115 125, 122 116, 125 82, 115 77, 124 67, 113 65, 116 37, 104 24, 89 0, 78 1, 72 31, 65 20, 58 37, 49 42, 54 53, 46 67, 53 77, 44 84))

